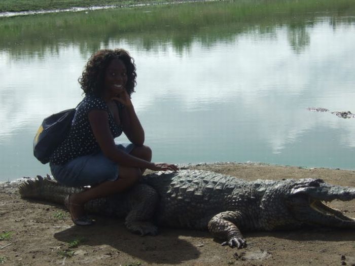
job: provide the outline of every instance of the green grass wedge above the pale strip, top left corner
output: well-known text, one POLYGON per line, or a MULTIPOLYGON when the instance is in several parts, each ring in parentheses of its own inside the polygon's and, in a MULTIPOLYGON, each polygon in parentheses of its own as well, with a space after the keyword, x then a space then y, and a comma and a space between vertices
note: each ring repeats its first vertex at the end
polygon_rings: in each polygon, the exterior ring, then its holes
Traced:
POLYGON ((74 7, 126 6, 132 4, 169 3, 173 0, 0 0, 0 12, 68 9, 74 7))

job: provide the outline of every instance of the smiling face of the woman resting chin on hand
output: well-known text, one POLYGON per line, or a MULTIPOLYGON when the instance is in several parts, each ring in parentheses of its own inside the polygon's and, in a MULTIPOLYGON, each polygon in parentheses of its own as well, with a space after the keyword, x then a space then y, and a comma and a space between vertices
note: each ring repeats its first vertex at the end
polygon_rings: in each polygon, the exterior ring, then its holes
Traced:
POLYGON ((104 91, 111 97, 119 95, 126 89, 127 68, 122 60, 113 59, 104 75, 104 91))

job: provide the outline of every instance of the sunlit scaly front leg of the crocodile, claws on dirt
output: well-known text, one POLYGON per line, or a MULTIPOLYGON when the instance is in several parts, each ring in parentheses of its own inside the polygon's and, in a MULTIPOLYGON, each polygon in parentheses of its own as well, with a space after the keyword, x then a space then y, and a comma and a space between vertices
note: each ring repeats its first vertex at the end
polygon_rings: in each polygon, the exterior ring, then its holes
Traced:
POLYGON ((237 211, 225 211, 213 216, 208 222, 209 232, 217 238, 227 239, 222 246, 229 245, 238 249, 246 247, 246 242, 240 233, 238 224, 241 214, 237 211))

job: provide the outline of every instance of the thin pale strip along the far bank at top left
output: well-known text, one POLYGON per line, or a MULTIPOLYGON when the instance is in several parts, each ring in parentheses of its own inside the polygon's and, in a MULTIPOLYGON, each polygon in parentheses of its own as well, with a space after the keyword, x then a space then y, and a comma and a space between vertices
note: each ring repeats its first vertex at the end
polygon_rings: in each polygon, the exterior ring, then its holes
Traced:
POLYGON ((88 6, 88 7, 68 7, 58 9, 38 9, 38 10, 26 10, 26 11, 5 11, 0 12, 0 18, 15 17, 15 16, 29 16, 39 14, 50 14, 60 12, 82 12, 82 11, 95 11, 102 9, 115 9, 115 8, 135 8, 135 7, 149 7, 149 6, 161 6, 161 5, 178 5, 186 3, 196 2, 220 2, 224 0, 179 0, 179 1, 164 1, 164 2, 151 2, 151 3, 136 3, 136 4, 117 4, 117 5, 104 5, 104 6, 88 6))

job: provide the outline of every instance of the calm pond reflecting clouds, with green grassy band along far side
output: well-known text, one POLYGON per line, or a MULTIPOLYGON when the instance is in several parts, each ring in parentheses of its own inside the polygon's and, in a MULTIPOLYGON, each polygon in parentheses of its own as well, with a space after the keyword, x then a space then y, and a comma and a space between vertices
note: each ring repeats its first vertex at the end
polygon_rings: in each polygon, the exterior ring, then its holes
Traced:
POLYGON ((154 161, 355 169, 355 118, 331 113, 355 112, 355 4, 332 2, 0 18, 0 181, 49 173, 32 156, 37 128, 82 99, 90 54, 118 47, 135 59, 154 161))

